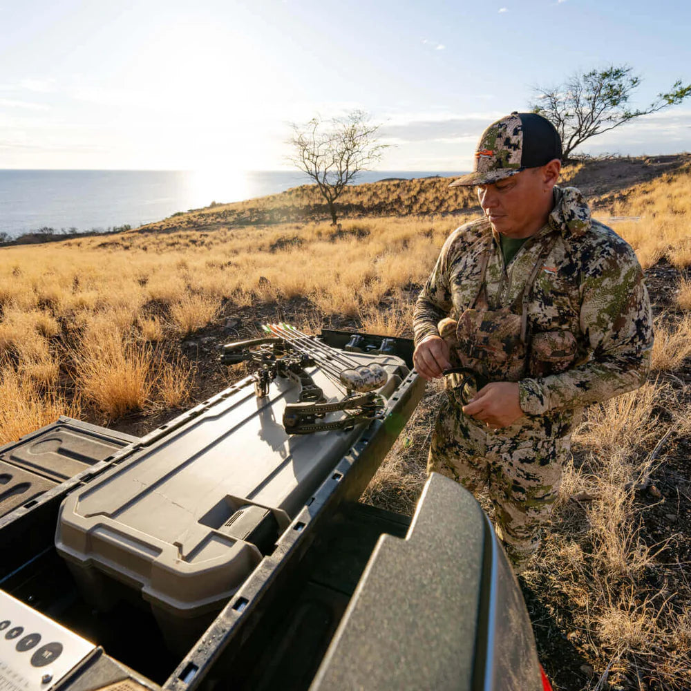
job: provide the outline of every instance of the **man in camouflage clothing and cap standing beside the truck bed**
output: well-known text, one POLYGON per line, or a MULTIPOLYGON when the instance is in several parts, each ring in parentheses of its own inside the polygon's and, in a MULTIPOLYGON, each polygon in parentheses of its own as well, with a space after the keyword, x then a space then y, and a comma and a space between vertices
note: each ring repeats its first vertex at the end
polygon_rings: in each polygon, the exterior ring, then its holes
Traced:
POLYGON ((444 375, 430 446, 437 471, 486 486, 515 571, 539 545, 583 406, 643 384, 652 319, 627 243, 556 187, 561 142, 535 113, 480 138, 484 218, 446 240, 415 307, 415 368, 444 375), (451 373, 448 373, 451 372, 451 373))

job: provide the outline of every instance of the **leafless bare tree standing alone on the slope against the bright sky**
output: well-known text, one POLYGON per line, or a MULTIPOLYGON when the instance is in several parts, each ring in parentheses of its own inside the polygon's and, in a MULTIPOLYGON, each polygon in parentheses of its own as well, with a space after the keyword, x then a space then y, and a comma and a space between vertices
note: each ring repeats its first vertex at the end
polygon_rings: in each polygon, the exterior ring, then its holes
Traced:
POLYGON ((332 120, 316 116, 307 124, 293 124, 292 128, 289 143, 294 153, 287 158, 319 186, 332 223, 337 225, 335 202, 345 185, 361 171, 370 170, 388 144, 377 143, 379 125, 372 124, 364 111, 350 111, 332 120))

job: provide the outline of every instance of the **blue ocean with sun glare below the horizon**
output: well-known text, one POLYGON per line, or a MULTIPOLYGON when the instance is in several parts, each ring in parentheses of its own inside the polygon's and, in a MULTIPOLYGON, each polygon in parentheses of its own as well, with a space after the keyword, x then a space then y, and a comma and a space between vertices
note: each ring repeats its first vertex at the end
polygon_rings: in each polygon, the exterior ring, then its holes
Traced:
MULTIPOLYGON (((457 171, 366 171, 357 182, 455 176, 457 171)), ((162 220, 211 202, 236 202, 311 182, 298 171, 0 170, 0 232, 16 237, 108 230, 162 220)))

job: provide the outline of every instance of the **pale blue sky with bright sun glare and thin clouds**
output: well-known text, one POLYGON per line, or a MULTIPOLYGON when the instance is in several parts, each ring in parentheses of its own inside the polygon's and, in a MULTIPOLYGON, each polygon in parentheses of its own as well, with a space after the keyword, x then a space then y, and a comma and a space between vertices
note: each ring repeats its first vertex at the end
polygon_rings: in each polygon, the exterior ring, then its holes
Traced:
MULTIPOLYGON (((689 26, 676 0, 0 0, 0 169, 285 169, 291 123, 359 108, 379 169, 469 170, 535 86, 688 84, 689 26)), ((691 99, 581 149, 690 150, 691 99)))

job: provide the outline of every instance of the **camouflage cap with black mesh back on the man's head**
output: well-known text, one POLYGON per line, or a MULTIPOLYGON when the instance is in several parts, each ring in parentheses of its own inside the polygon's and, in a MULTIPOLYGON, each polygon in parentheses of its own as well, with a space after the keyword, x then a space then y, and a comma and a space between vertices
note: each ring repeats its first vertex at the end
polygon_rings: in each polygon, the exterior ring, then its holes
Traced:
POLYGON ((482 133, 473 172, 454 180, 449 187, 497 182, 527 168, 544 166, 561 155, 559 133, 547 118, 513 111, 482 133))

